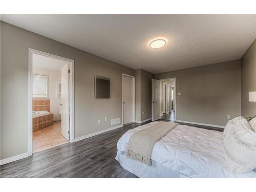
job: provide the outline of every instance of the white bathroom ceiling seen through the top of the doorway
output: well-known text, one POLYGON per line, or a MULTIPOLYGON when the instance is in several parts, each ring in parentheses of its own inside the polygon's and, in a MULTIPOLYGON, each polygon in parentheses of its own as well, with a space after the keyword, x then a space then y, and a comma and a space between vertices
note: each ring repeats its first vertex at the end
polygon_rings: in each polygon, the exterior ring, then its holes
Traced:
POLYGON ((67 64, 66 61, 46 57, 43 55, 33 54, 33 68, 49 69, 61 71, 61 68, 67 64))

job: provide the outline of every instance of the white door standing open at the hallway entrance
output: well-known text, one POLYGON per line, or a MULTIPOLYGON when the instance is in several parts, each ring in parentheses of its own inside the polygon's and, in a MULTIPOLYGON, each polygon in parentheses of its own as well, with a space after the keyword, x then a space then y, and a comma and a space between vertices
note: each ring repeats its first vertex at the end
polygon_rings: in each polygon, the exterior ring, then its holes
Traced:
POLYGON ((152 121, 160 119, 160 80, 152 79, 152 121))

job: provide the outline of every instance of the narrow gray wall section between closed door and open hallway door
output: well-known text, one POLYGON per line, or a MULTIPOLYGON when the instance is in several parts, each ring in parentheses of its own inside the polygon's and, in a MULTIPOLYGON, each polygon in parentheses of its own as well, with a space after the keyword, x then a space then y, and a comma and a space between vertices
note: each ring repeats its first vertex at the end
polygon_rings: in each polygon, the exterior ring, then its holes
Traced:
POLYGON ((136 121, 151 118, 151 79, 154 74, 138 69, 136 74, 136 121), (144 114, 142 114, 144 112, 144 114))

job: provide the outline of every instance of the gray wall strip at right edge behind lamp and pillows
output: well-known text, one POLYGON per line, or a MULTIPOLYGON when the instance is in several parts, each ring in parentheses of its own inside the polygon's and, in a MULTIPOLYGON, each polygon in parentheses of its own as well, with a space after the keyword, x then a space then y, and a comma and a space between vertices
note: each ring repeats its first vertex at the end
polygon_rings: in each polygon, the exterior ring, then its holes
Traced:
POLYGON ((241 59, 242 66, 242 116, 256 115, 256 102, 248 101, 248 92, 256 91, 256 40, 241 59))

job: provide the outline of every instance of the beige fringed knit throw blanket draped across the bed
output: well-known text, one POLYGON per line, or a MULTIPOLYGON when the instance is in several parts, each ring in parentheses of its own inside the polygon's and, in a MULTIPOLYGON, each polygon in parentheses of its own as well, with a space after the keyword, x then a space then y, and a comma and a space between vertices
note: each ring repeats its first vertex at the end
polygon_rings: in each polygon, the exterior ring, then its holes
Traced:
POLYGON ((160 121, 134 133, 129 139, 126 157, 151 165, 151 154, 155 143, 177 125, 178 123, 160 121))

